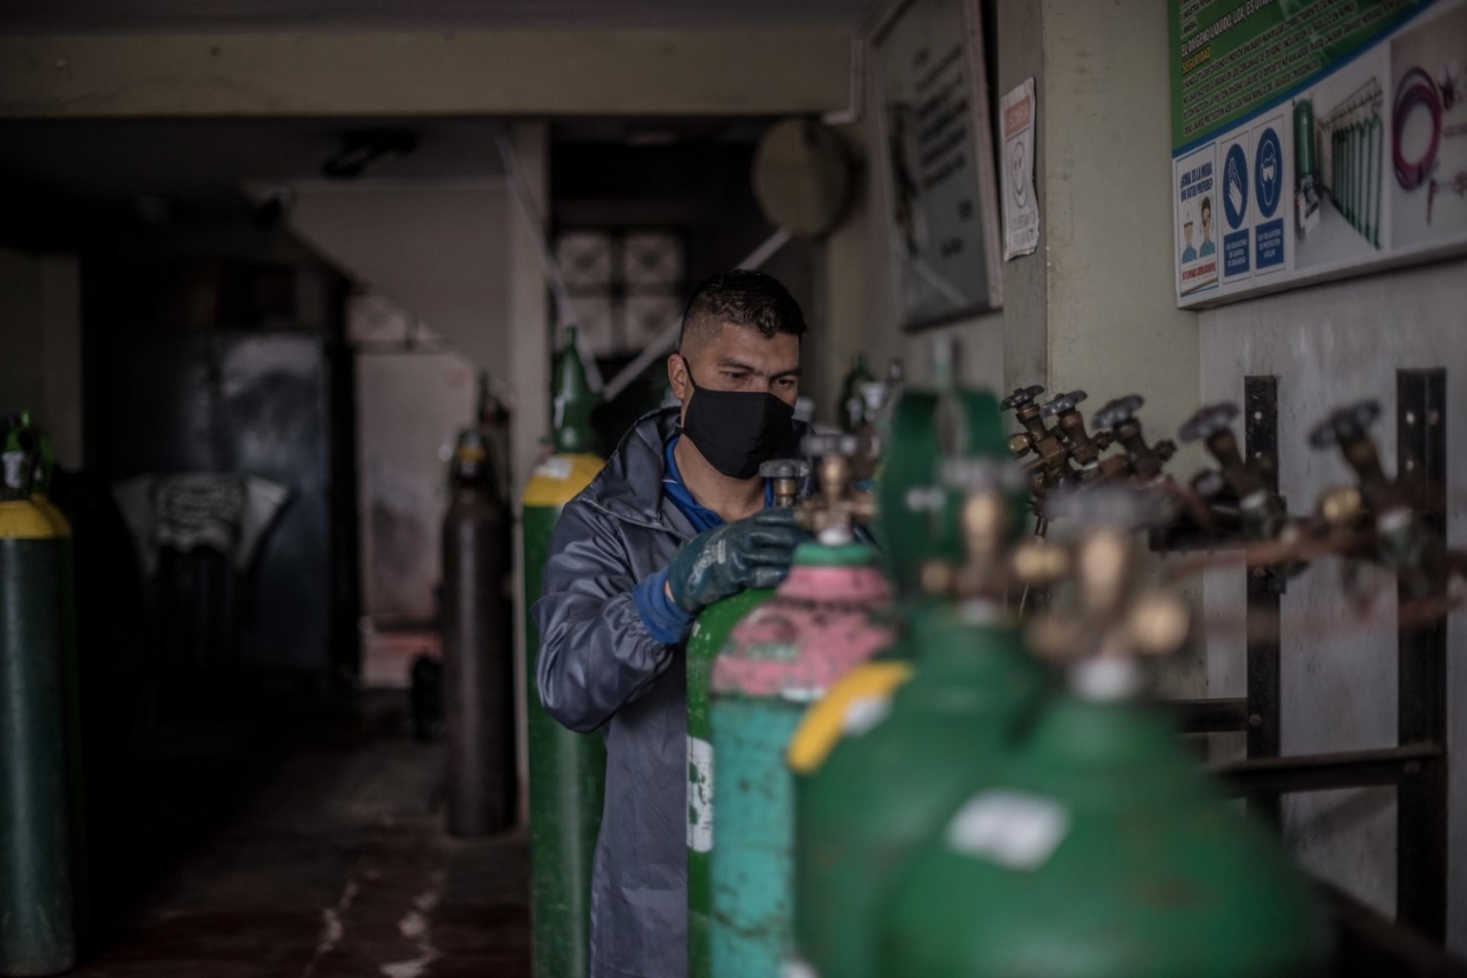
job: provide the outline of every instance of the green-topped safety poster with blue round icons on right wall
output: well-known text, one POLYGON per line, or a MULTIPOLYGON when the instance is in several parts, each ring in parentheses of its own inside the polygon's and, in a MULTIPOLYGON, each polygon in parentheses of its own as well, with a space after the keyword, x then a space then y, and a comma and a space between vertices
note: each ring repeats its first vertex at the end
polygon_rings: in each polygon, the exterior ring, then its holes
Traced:
POLYGON ((1467 0, 1168 0, 1177 298, 1467 245, 1467 0))

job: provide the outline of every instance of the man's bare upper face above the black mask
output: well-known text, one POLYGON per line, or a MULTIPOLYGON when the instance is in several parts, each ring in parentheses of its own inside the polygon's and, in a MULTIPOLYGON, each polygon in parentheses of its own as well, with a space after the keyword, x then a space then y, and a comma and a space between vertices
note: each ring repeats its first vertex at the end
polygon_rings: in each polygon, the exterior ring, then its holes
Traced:
POLYGON ((753 327, 725 323, 711 340, 667 358, 667 380, 673 396, 682 402, 684 418, 692 399, 684 356, 698 387, 767 391, 791 406, 800 396, 800 337, 775 333, 766 340, 753 327))

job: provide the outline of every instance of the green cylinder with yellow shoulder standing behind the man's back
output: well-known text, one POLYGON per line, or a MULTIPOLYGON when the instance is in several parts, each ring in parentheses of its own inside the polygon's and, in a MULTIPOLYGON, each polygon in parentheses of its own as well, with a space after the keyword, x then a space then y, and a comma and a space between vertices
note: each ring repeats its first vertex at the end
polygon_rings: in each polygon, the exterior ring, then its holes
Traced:
POLYGON ((560 509, 601 471, 590 390, 566 327, 556 369, 553 455, 535 466, 524 506, 525 677, 530 727, 530 915, 535 978, 584 978, 588 969, 591 865, 601 827, 606 745, 599 735, 566 730, 540 705, 535 660, 540 633, 530 607, 550 554, 560 509))

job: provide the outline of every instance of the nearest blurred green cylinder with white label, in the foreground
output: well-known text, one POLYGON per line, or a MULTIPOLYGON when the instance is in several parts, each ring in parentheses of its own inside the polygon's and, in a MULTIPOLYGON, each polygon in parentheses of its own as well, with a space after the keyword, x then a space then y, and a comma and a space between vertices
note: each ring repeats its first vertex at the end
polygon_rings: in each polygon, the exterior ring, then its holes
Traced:
POLYGON ((882 974, 1297 978, 1328 930, 1303 875, 1229 806, 1131 663, 1080 667, 889 896, 882 974))

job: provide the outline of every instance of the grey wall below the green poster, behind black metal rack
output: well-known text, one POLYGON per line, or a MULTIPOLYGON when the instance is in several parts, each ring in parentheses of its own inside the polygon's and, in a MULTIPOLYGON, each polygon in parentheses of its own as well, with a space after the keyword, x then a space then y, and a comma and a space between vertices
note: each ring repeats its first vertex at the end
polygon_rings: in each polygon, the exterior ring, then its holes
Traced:
MULTIPOLYGON (((1467 261, 1408 268, 1203 312, 1201 396, 1243 400, 1245 374, 1279 378, 1279 488, 1304 512, 1350 472, 1334 452, 1306 443, 1332 408, 1363 397, 1383 408, 1376 435, 1386 471, 1395 459, 1397 368, 1448 368, 1448 532, 1467 545, 1467 261)), ((1209 694, 1243 695, 1244 651, 1238 575, 1207 582, 1215 620, 1209 694), (1231 623, 1231 628, 1229 628, 1231 623)), ((1366 620, 1341 595, 1339 565, 1320 562, 1291 581, 1282 601, 1284 752, 1395 745, 1397 636, 1394 579, 1370 579, 1380 594, 1366 620)), ((1467 614, 1448 629, 1448 751, 1451 774, 1451 891, 1448 934, 1467 952, 1467 614)), ((1395 793, 1360 789, 1300 795, 1285 802, 1288 836, 1304 864, 1369 900, 1395 909, 1395 793)))

